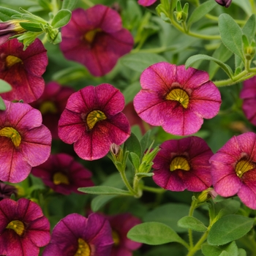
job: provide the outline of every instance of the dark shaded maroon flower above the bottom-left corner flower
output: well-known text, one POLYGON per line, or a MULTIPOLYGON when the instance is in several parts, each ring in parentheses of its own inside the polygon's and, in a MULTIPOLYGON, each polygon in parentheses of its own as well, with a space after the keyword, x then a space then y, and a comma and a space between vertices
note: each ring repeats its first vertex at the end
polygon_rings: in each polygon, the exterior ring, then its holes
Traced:
POLYGON ((91 172, 68 154, 52 154, 46 162, 33 167, 31 173, 54 191, 64 195, 81 193, 79 187, 91 187, 91 172))

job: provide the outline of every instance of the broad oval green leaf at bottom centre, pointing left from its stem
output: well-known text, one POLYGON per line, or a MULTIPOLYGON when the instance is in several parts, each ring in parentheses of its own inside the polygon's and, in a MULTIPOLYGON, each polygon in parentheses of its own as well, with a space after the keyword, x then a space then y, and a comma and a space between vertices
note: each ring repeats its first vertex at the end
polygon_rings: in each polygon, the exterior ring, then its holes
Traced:
POLYGON ((160 222, 146 222, 136 225, 129 230, 127 238, 151 245, 183 242, 182 238, 173 229, 160 222))

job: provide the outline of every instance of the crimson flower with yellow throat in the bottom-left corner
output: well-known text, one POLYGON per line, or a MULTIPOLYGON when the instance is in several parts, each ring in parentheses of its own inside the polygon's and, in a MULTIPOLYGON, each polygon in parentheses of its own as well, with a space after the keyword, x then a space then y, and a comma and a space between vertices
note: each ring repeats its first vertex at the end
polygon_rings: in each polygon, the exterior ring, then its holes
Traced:
POLYGON ((37 203, 0 201, 0 255, 36 256, 49 241, 50 223, 37 203))

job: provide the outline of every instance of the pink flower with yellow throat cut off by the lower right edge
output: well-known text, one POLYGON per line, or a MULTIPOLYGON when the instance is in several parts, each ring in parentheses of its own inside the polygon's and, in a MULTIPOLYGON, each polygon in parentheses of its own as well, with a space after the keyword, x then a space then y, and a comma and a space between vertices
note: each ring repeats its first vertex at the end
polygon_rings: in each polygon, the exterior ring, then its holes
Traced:
POLYGON ((233 136, 211 157, 215 191, 222 197, 238 195, 249 208, 256 209, 256 134, 233 136))

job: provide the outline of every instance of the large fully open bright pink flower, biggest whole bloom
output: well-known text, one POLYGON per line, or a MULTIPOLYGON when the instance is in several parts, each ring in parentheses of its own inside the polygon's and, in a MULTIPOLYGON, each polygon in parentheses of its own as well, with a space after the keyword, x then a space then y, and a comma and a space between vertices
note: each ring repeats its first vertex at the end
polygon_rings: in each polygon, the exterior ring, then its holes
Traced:
POLYGON ((205 71, 159 62, 143 71, 140 84, 136 112, 173 135, 191 135, 200 129, 203 118, 219 112, 219 90, 205 71))

